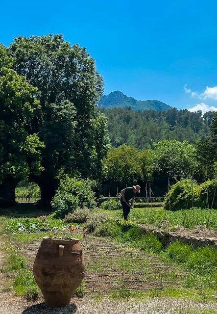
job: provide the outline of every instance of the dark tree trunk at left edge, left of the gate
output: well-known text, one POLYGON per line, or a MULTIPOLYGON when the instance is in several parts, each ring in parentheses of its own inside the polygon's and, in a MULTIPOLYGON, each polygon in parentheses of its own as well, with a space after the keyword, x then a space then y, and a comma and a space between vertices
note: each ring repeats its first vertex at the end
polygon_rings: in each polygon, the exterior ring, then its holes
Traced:
POLYGON ((15 204, 15 187, 18 181, 4 180, 0 184, 0 205, 9 206, 15 204))

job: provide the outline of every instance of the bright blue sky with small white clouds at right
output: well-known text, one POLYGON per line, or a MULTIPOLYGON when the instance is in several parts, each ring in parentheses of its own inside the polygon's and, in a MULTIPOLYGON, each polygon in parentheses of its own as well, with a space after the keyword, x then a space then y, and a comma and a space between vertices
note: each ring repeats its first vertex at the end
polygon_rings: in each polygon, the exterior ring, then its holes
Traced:
POLYGON ((217 110, 216 0, 1 0, 0 12, 4 45, 61 33, 87 47, 105 94, 217 110))

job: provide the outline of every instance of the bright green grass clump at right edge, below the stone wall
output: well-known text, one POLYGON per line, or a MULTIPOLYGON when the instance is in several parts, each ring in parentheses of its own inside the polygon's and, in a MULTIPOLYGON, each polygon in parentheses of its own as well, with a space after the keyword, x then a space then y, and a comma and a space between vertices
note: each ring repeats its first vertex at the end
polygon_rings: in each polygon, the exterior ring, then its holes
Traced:
POLYGON ((193 250, 189 255, 187 267, 195 269, 198 273, 216 273, 217 249, 207 246, 193 250))

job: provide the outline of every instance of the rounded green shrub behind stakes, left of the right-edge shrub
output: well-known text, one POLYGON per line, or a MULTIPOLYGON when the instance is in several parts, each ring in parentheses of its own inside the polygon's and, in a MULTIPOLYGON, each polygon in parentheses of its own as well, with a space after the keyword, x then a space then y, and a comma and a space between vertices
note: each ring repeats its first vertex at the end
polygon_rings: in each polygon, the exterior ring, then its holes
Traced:
POLYGON ((179 209, 190 209, 192 207, 192 200, 199 195, 198 185, 191 179, 181 180, 172 185, 170 191, 165 197, 165 209, 172 211, 179 209))

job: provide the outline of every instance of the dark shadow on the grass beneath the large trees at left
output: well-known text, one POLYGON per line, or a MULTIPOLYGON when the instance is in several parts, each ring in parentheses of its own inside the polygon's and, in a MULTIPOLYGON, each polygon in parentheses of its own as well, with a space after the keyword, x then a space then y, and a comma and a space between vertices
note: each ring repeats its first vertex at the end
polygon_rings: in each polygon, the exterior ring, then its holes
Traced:
POLYGON ((0 208, 0 216, 15 218, 38 217, 49 213, 50 208, 38 206, 36 203, 17 203, 11 207, 0 208))

